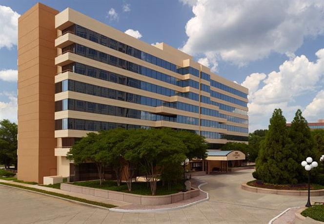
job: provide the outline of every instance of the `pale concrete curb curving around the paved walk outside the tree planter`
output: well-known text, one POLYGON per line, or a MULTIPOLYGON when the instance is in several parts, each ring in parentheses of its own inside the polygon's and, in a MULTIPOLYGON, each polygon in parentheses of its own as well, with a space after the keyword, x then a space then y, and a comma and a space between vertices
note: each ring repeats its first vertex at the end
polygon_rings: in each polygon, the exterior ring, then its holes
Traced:
MULTIPOLYGON (((206 183, 200 184, 198 186, 198 189, 201 190, 201 191, 203 191, 200 187, 202 187, 203 185, 206 185, 206 184, 208 184, 208 183, 206 182, 206 183)), ((162 211, 178 210, 178 209, 182 209, 182 208, 185 208, 185 207, 189 207, 189 206, 192 206, 192 205, 196 205, 196 204, 202 203, 204 201, 208 201, 209 200, 209 194, 207 192, 205 192, 205 191, 203 191, 203 193, 205 193, 207 195, 206 198, 201 199, 201 200, 196 201, 196 202, 192 202, 192 203, 186 204, 186 205, 180 205, 180 206, 177 206, 177 207, 146 209, 146 210, 144 210, 144 209, 129 210, 129 209, 122 209, 122 208, 109 208, 109 211, 124 212, 124 213, 149 213, 149 212, 162 212, 162 211)))

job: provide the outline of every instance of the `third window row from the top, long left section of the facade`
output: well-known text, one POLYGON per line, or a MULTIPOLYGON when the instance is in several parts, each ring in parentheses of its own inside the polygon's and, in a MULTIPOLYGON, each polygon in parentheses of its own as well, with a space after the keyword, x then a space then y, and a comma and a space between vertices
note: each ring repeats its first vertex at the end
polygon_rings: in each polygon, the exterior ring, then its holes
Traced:
POLYGON ((149 91, 152 93, 158 93, 158 94, 167 95, 167 96, 175 95, 174 90, 171 90, 171 89, 168 89, 168 88, 165 88, 162 86, 158 86, 155 84, 151 84, 148 82, 144 82, 144 81, 141 81, 141 80, 138 80, 135 78, 130 78, 130 77, 127 77, 124 75, 119 75, 116 73, 97 69, 97 68, 94 68, 94 67, 91 67, 88 65, 84 65, 81 63, 77 63, 77 62, 62 66, 62 71, 72 71, 77 74, 87 75, 90 77, 103 79, 103 80, 106 80, 109 82, 114 82, 114 83, 118 83, 121 85, 130 86, 133 88, 149 91))

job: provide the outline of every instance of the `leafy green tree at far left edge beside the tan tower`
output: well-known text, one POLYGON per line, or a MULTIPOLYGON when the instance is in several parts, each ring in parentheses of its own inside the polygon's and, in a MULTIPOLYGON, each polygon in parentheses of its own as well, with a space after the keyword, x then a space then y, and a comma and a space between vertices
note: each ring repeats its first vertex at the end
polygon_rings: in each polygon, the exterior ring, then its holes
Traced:
POLYGON ((0 164, 17 168, 17 125, 9 120, 0 121, 0 164))

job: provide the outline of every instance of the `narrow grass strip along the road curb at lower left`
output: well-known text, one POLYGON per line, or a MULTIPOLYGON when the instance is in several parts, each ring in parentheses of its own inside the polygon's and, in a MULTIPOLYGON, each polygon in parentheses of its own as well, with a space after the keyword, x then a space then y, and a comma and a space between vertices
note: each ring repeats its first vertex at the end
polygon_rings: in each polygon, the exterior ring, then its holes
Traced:
POLYGON ((87 203, 87 204, 90 204, 90 205, 98 205, 98 206, 107 207, 107 208, 116 207, 115 205, 109 205, 109 204, 105 204, 105 203, 101 203, 101 202, 90 201, 90 200, 86 200, 86 199, 83 199, 83 198, 77 198, 77 197, 73 197, 73 196, 66 195, 66 194, 60 194, 60 193, 55 193, 55 192, 51 192, 51 191, 36 189, 36 188, 33 188, 33 187, 25 187, 25 186, 9 184, 9 183, 0 183, 0 185, 18 187, 18 188, 22 188, 22 189, 41 192, 41 193, 44 193, 44 194, 54 195, 54 196, 57 196, 57 197, 66 198, 66 199, 70 199, 70 200, 77 201, 77 202, 87 203))

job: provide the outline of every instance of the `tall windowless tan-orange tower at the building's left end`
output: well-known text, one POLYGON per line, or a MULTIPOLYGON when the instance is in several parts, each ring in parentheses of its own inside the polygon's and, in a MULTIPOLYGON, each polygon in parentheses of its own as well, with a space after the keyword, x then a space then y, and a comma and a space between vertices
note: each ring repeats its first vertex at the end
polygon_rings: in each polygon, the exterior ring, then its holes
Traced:
POLYGON ((55 15, 37 3, 18 20, 18 179, 56 175, 54 77, 55 15))

